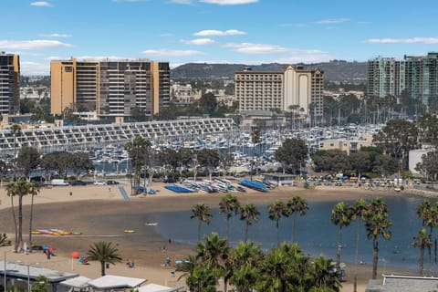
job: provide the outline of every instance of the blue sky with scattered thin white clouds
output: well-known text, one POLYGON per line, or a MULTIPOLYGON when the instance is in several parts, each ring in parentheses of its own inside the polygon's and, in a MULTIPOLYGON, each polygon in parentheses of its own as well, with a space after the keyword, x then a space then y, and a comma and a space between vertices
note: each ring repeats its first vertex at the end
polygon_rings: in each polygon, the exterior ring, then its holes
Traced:
POLYGON ((256 65, 438 51, 438 1, 0 0, 0 50, 24 75, 50 60, 150 58, 256 65))

